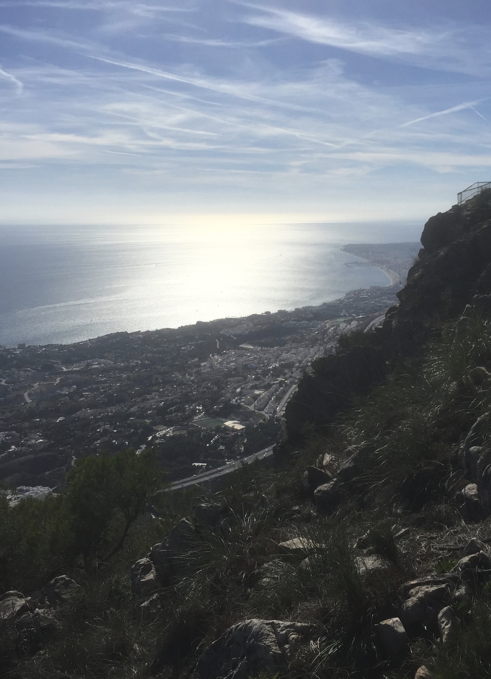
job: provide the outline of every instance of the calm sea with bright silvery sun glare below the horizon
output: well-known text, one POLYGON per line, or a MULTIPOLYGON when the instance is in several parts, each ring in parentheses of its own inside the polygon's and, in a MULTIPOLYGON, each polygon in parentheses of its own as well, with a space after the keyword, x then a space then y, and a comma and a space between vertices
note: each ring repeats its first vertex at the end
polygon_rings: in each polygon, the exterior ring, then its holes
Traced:
POLYGON ((349 242, 417 241, 420 224, 0 227, 0 344, 77 342, 115 331, 321 304, 388 285, 345 266, 349 242))

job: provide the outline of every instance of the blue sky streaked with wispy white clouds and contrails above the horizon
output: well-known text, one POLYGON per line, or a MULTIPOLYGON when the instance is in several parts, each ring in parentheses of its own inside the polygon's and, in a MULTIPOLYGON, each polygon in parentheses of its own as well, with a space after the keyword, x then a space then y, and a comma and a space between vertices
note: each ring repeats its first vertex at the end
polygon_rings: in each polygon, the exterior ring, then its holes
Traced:
POLYGON ((0 0, 0 223, 427 219, 491 181, 488 0, 0 0))

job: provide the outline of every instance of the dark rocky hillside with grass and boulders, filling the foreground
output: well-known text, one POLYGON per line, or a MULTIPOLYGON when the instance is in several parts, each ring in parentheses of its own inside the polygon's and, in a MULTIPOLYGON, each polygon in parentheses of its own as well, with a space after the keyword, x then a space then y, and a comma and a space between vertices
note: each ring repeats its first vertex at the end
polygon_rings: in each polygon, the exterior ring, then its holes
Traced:
MULTIPOLYGON (((38 521, 36 580, 81 589, 64 608, 50 588, 22 604, 32 585, 11 569, 12 676, 490 676, 491 192, 432 217, 421 242, 382 326, 341 337, 300 382, 275 469, 212 498, 156 494, 117 556, 94 547, 87 564, 38 521)), ((2 511, 35 555, 29 511, 2 511)), ((106 543, 123 526, 114 509, 106 543)))

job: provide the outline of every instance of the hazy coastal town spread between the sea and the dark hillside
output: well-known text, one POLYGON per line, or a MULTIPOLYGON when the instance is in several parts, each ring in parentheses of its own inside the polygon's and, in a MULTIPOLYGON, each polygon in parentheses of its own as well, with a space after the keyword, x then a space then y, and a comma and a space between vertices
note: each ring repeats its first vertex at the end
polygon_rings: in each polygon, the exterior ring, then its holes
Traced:
POLYGON ((346 246, 391 285, 320 306, 0 347, 0 481, 57 488, 76 458, 125 447, 154 447, 175 481, 275 443, 302 374, 342 333, 381 322, 417 248, 346 246))

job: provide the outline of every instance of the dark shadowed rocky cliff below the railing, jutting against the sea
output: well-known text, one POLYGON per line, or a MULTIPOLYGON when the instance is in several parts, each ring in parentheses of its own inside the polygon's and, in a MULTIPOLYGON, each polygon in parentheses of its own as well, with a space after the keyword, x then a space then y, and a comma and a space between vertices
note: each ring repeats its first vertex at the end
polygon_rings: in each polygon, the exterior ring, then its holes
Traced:
POLYGON ((421 243, 406 287, 397 293, 400 304, 387 311, 383 325, 366 337, 349 339, 354 346, 315 361, 313 374, 300 382, 285 414, 293 445, 302 439, 307 422, 330 426, 389 368, 420 356, 467 304, 491 309, 491 190, 431 217, 421 243))

